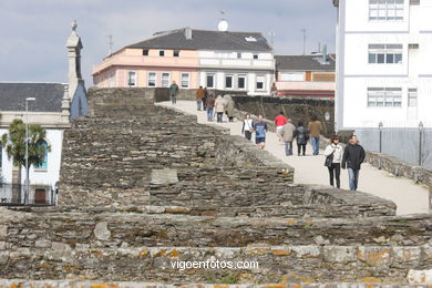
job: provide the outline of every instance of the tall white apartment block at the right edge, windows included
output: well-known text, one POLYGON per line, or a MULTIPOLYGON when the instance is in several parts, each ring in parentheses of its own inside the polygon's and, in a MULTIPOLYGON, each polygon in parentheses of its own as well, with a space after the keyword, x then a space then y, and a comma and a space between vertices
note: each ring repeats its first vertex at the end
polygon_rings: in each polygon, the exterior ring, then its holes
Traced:
POLYGON ((432 0, 333 0, 337 130, 432 127, 432 0))

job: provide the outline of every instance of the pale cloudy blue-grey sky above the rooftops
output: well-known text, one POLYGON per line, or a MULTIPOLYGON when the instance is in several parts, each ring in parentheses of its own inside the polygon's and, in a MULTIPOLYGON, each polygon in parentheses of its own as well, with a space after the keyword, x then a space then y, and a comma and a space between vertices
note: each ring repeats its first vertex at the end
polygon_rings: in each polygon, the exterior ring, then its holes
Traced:
POLYGON ((82 74, 92 86, 92 68, 109 53, 184 27, 261 32, 275 54, 301 54, 319 43, 335 52, 336 9, 331 0, 0 0, 0 82, 66 82, 66 39, 71 23, 83 43, 82 74))

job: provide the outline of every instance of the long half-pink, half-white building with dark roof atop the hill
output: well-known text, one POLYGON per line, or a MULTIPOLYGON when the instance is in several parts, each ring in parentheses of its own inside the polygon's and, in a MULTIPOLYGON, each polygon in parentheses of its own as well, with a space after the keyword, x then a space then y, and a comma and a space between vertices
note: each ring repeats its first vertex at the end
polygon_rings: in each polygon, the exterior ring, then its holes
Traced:
POLYGON ((274 56, 257 32, 206 31, 184 28, 155 33, 125 47, 93 69, 103 88, 167 88, 245 91, 269 94, 274 56))

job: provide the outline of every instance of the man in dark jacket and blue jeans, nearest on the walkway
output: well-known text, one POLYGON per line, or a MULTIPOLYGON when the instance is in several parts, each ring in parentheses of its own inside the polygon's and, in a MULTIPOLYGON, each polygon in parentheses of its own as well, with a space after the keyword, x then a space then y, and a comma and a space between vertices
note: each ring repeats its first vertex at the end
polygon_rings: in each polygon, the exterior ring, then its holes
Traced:
POLYGON ((357 184, 359 183, 360 165, 363 163, 366 153, 363 147, 359 144, 359 140, 356 135, 352 135, 349 140, 349 144, 343 151, 342 168, 348 167, 349 185, 351 191, 357 191, 357 184))

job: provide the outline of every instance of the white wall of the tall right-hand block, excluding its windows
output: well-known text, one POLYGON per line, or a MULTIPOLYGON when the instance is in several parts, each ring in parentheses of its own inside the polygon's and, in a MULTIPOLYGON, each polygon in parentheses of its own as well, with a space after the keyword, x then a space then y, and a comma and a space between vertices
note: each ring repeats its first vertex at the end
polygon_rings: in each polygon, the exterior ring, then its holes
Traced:
POLYGON ((341 0, 338 25, 338 128, 432 127, 432 0, 404 1, 403 21, 369 21, 369 0, 341 0), (402 44, 401 64, 369 64, 369 44, 402 44), (419 44, 419 49, 409 49, 419 44), (368 88, 401 88, 402 106, 368 106, 368 88), (408 89, 418 89, 418 106, 408 107, 408 89), (340 111, 341 110, 341 111, 340 111), (414 112, 414 113, 413 113, 414 112), (339 123, 338 123, 339 124, 339 123))

